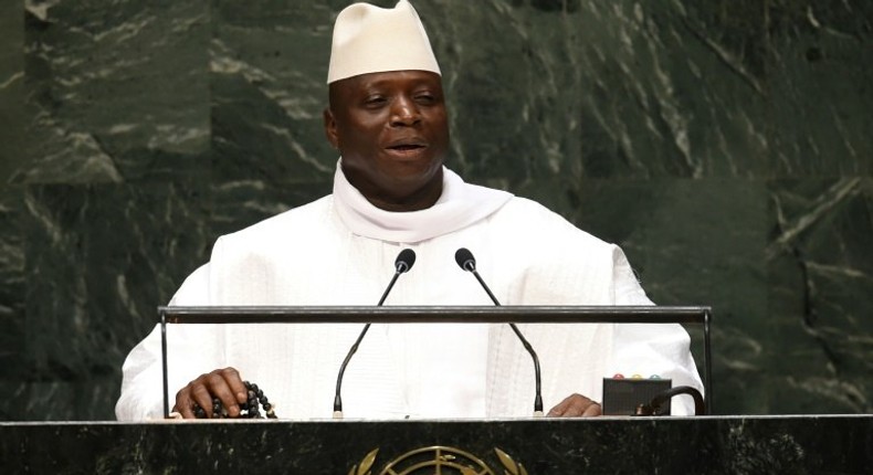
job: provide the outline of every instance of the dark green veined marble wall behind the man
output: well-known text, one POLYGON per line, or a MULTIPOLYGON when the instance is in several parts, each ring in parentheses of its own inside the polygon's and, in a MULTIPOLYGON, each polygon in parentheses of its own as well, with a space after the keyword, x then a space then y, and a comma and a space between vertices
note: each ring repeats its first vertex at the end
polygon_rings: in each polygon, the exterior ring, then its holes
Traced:
MULTIPOLYGON (((0 0, 0 419, 112 419, 213 240, 329 192, 346 4, 0 0)), ((873 3, 414 4, 450 166, 712 305, 718 413, 873 412, 873 3)))

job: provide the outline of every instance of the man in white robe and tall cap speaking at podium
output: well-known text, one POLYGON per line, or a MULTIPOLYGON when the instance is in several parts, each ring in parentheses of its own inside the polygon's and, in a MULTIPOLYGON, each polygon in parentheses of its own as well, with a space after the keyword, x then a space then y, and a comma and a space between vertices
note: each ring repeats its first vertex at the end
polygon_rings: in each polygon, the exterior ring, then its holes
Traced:
MULTIPOLYGON (((651 305, 624 254, 544 207, 444 168, 440 71, 412 7, 355 4, 337 18, 328 140, 330 196, 220 238, 171 305, 374 305, 402 249, 417 253, 385 305, 492 305, 455 263, 470 249, 504 305, 651 305), (389 52, 390 54, 385 54, 389 52), (381 53, 381 54, 380 54, 381 53)), ((519 325, 539 353, 549 415, 598 415, 601 381, 659 374, 702 390, 677 325, 519 325), (586 394, 586 395, 581 395, 586 394)), ((175 411, 231 415, 242 379, 287 419, 329 418, 361 325, 177 325, 168 329, 175 411), (218 369, 217 369, 218 368, 218 369)), ((119 420, 162 414, 156 328, 124 366, 119 420)), ((346 370, 348 418, 529 416, 534 371, 506 325, 374 325, 346 370)), ((673 413, 692 412, 674 399, 673 413)))

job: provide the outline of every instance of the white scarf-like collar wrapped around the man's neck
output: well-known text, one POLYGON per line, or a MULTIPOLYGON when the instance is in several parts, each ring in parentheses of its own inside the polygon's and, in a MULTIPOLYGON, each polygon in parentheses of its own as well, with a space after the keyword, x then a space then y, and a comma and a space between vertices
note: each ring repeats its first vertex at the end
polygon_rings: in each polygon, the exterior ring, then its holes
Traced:
POLYGON ((443 167, 442 196, 427 210, 392 212, 376 208, 351 186, 337 162, 334 207, 353 233, 382 241, 416 243, 480 221, 513 198, 512 193, 467 184, 443 167))

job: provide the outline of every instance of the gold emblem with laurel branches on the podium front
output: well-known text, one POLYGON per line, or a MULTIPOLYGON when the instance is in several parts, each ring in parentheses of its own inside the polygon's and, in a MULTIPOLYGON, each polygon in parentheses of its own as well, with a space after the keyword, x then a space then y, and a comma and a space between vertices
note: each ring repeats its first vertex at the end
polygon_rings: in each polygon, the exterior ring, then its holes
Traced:
MULTIPOLYGON (((376 448, 367 454, 357 465, 353 466, 348 475, 374 475, 372 466, 376 464, 376 448)), ((516 463, 506 452, 494 448, 503 468, 504 475, 527 475, 525 467, 516 463)), ((416 448, 401 454, 378 472, 379 475, 497 475, 481 458, 455 447, 434 445, 416 448)))

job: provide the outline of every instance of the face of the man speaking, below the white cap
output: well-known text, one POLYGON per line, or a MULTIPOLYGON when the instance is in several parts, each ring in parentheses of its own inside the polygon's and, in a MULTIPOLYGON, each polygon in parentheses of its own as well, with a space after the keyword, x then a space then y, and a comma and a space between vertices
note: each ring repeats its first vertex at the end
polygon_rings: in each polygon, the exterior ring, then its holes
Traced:
POLYGON ((440 197, 449 126, 438 74, 396 71, 333 83, 325 131, 346 178, 375 205, 411 211, 440 197))

